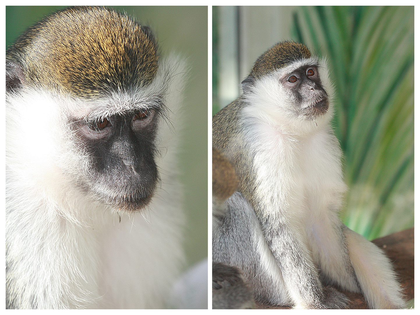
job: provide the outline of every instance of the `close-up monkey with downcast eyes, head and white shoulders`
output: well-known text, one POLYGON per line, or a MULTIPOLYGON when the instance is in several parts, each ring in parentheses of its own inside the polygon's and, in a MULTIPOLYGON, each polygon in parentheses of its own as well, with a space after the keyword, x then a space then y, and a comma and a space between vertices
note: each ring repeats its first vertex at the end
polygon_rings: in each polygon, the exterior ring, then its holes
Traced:
POLYGON ((184 259, 186 64, 100 7, 6 53, 6 307, 160 308, 184 259))

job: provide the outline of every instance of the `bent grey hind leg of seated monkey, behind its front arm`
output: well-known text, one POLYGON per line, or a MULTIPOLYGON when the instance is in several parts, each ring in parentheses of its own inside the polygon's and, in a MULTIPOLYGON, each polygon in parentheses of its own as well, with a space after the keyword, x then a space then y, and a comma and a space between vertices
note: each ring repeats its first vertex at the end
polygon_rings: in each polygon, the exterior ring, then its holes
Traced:
POLYGON ((238 267, 257 301, 292 305, 254 209, 239 192, 226 201, 226 215, 213 220, 213 262, 238 267))

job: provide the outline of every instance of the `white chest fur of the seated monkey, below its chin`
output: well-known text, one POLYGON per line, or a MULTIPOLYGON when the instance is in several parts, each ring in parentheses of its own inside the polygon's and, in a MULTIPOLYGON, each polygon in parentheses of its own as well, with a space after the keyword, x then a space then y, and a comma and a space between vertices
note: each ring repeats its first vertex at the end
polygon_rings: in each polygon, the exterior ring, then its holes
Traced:
POLYGON ((340 208, 346 185, 339 143, 329 128, 299 138, 268 125, 253 130, 260 135, 252 144, 256 189, 268 212, 316 222, 340 208))

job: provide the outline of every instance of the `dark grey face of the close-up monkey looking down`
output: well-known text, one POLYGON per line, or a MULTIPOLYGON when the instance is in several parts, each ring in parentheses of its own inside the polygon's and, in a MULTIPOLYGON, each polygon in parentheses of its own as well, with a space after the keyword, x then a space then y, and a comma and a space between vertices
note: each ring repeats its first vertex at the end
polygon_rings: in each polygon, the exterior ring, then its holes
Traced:
POLYGON ((154 145, 157 119, 157 110, 145 109, 74 123, 92 158, 89 186, 100 201, 129 212, 150 202, 159 180, 154 145))

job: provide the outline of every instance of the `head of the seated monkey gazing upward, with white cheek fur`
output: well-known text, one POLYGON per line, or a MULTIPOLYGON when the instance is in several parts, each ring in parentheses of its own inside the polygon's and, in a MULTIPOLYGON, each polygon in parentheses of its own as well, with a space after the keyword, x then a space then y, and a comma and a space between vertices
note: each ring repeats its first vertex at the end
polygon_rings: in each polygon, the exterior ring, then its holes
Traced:
POLYGON ((331 119, 325 61, 302 44, 279 42, 268 49, 255 61, 242 88, 245 103, 260 104, 257 112, 255 107, 249 111, 262 119, 270 117, 285 133, 307 132, 331 119))

